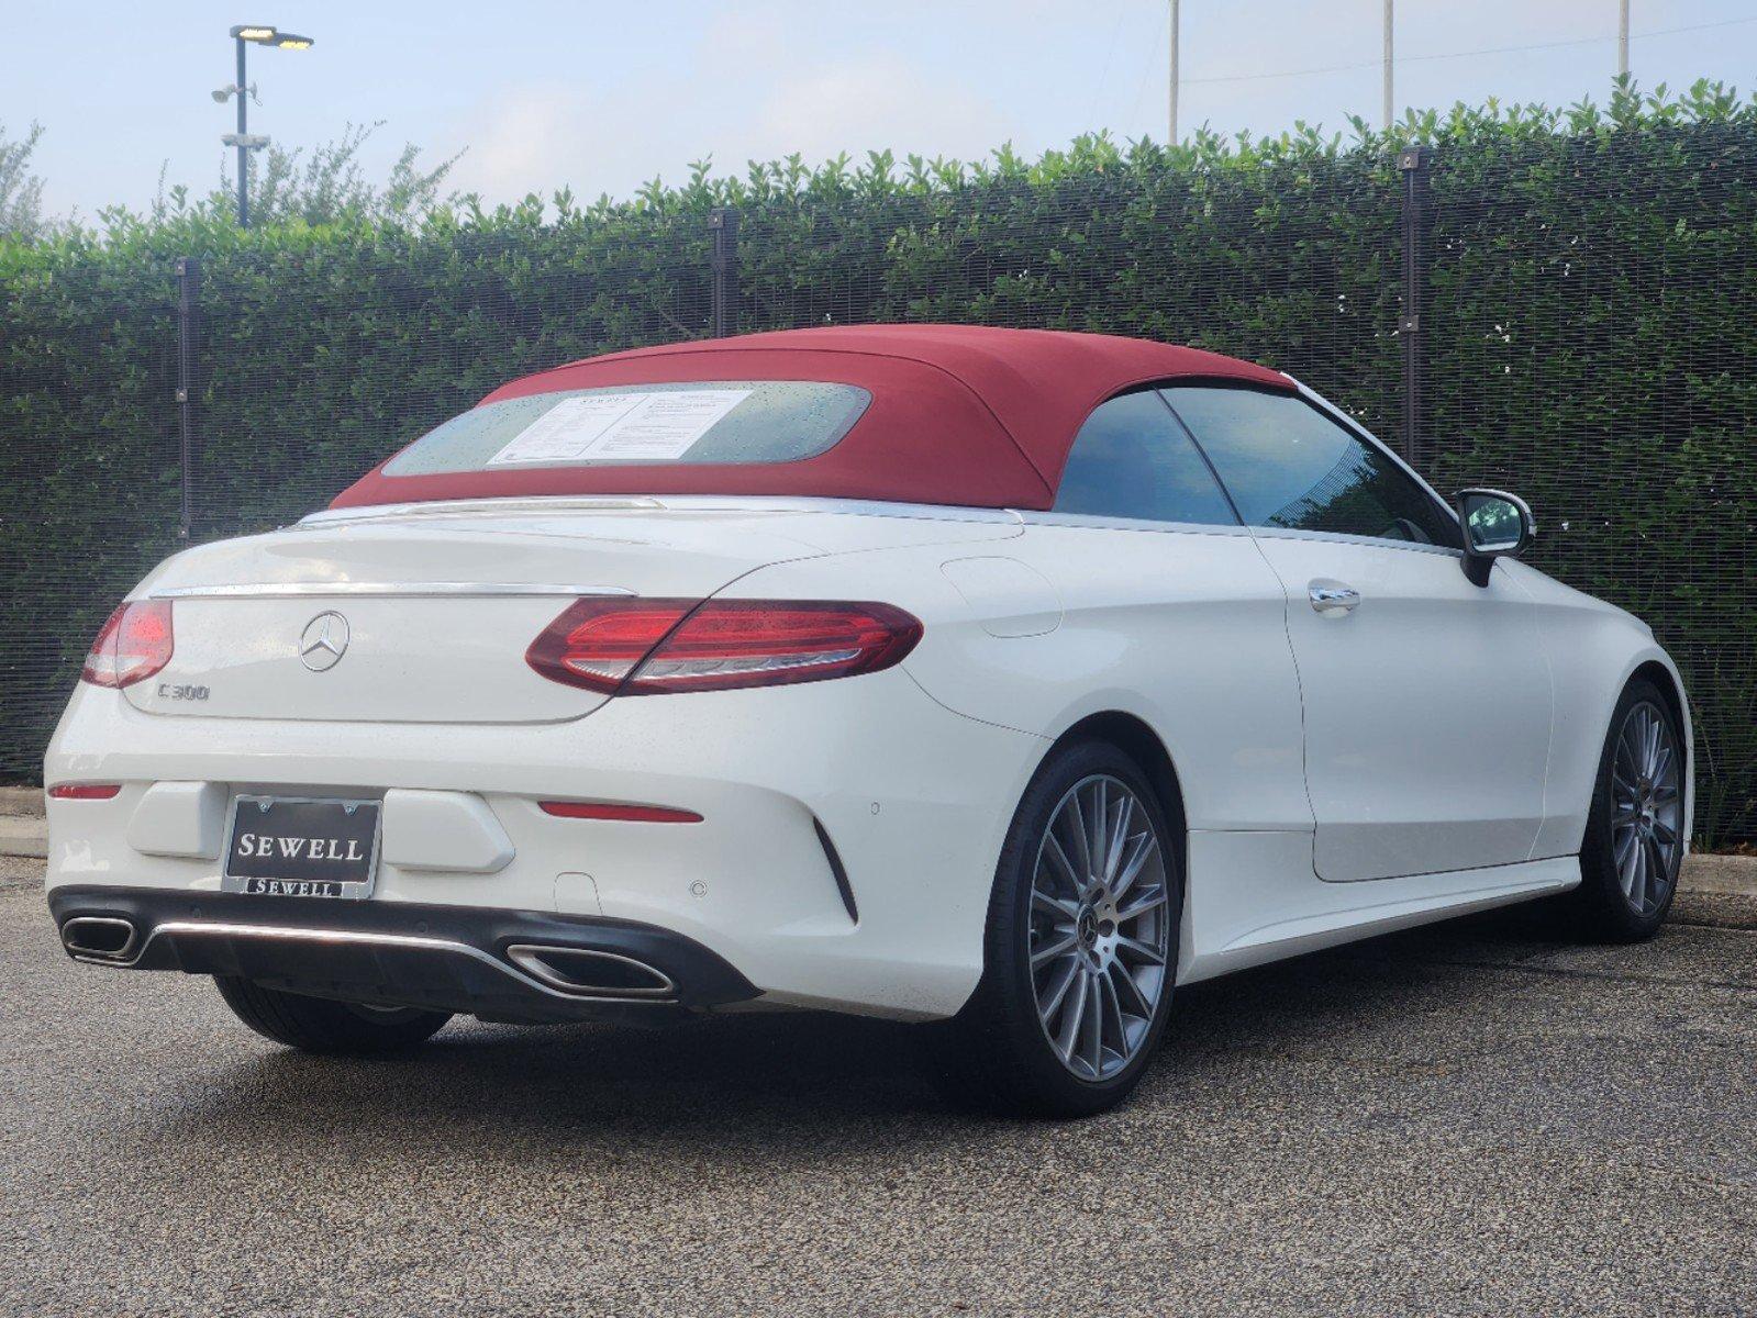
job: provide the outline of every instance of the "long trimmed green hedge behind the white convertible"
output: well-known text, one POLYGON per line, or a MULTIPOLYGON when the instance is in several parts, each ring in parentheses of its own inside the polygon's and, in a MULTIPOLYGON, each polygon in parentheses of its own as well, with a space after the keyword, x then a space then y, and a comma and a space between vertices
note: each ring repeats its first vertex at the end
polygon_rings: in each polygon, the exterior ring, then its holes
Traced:
POLYGON ((1142 334, 1402 422, 1402 181, 1434 148, 1425 464, 1506 483, 1537 561, 1688 670, 1699 835, 1757 835, 1757 111, 1713 86, 1606 111, 1414 116, 982 165, 706 170, 418 225, 237 232, 195 209, 0 243, 0 773, 30 777, 109 605, 176 545, 172 262, 204 262, 197 538, 274 525, 508 376, 705 334, 713 206, 740 327, 963 320, 1142 334))

